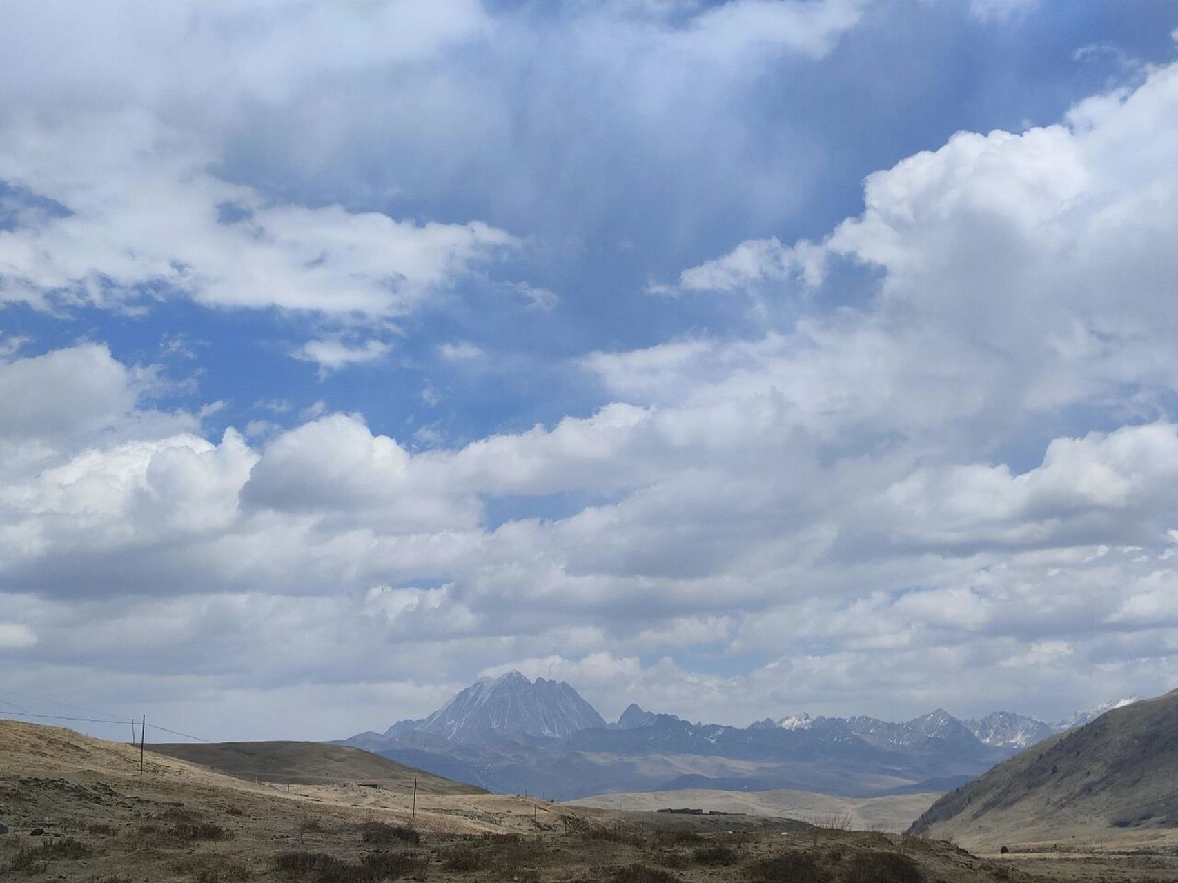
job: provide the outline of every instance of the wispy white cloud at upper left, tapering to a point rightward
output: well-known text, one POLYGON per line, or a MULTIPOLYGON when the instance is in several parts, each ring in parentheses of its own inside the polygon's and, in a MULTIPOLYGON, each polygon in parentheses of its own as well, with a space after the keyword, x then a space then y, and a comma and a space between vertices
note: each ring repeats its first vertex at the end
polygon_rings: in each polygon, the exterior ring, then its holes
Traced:
POLYGON ((0 299, 133 310, 183 296, 390 317, 515 244, 478 221, 269 200, 213 175, 211 155, 139 112, 92 114, 68 131, 0 120, 0 180, 65 210, 0 231, 0 299))

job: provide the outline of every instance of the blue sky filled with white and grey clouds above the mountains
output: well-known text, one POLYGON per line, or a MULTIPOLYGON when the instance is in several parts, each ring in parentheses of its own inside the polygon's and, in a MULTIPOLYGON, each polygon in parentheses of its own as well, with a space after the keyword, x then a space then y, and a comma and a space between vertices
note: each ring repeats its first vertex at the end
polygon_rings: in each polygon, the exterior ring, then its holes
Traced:
POLYGON ((0 711, 1178 686, 1174 4, 5 19, 0 711))

